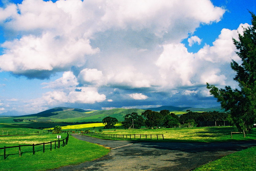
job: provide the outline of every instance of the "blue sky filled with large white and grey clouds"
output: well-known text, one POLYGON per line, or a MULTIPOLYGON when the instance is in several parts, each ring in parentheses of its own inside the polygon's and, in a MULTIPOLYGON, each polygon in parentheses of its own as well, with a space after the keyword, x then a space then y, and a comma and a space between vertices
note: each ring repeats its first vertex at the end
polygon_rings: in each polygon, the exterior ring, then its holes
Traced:
POLYGON ((255 0, 2 0, 0 114, 220 106, 255 0))

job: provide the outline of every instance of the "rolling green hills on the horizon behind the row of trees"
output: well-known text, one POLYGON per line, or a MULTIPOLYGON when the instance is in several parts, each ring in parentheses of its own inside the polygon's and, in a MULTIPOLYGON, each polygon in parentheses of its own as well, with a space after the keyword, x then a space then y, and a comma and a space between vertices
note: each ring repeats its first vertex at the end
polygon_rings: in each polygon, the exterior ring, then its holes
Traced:
MULTIPOLYGON (((159 108, 148 108, 153 111, 169 110, 180 116, 186 113, 186 110, 193 112, 208 112, 220 111, 218 107, 214 108, 190 108, 190 107, 175 107, 175 106, 161 106, 159 108)), ((89 111, 83 109, 74 109, 66 107, 57 107, 43 112, 31 115, 14 116, 0 118, 0 127, 22 127, 22 128, 49 128, 56 125, 66 126, 79 123, 95 123, 102 122, 102 119, 111 116, 117 118, 118 121, 123 121, 124 116, 136 112, 141 115, 146 109, 111 109, 111 110, 96 110, 89 111)))

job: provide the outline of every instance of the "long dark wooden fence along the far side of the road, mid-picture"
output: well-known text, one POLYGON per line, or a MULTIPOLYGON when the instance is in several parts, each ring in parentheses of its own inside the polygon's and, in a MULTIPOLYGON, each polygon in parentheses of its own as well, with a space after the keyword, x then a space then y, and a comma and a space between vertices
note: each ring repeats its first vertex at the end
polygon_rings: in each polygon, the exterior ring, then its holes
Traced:
POLYGON ((163 138, 163 134, 102 134, 102 133, 95 133, 95 132, 88 132, 88 133, 81 133, 81 134, 90 134, 90 135, 95 135, 95 136, 98 136, 98 137, 106 137, 106 138, 134 138, 136 139, 136 136, 137 138, 139 137, 139 139, 141 139, 141 136, 145 137, 146 139, 152 139, 152 136, 156 136, 156 138, 163 138))

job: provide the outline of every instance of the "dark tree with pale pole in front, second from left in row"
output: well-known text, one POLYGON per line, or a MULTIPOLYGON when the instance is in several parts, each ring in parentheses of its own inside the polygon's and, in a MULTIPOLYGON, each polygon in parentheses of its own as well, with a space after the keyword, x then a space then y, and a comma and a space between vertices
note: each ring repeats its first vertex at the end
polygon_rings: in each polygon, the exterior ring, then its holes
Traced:
POLYGON ((144 123, 145 120, 142 116, 139 116, 137 113, 132 112, 132 114, 127 114, 124 116, 124 121, 122 122, 122 125, 125 129, 139 129, 141 126, 144 125, 144 123))

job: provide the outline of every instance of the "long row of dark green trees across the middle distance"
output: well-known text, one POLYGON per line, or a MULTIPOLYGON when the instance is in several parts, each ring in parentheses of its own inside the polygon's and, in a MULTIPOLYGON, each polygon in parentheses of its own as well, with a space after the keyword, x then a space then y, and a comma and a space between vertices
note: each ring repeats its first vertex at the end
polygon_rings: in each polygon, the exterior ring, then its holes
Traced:
MULTIPOLYGON (((174 113, 170 113, 169 110, 161 110, 160 112, 146 110, 141 113, 141 116, 135 112, 125 115, 122 126, 124 129, 139 129, 142 126, 148 128, 159 128, 160 126, 166 128, 190 127, 197 125, 201 121, 222 121, 228 118, 229 115, 227 113, 216 111, 201 113, 187 111, 187 113, 178 117, 174 113)), ((110 116, 102 120, 102 123, 105 125, 104 128, 106 129, 115 128, 117 122, 118 120, 116 118, 110 116)))

